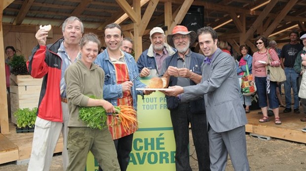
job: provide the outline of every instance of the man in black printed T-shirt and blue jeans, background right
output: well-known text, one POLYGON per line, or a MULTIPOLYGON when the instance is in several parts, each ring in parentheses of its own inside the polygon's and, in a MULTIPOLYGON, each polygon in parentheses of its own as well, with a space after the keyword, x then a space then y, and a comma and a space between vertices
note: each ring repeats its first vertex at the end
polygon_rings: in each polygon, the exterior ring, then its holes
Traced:
POLYGON ((300 73, 297 73, 294 70, 294 63, 295 59, 298 55, 298 52, 300 52, 303 49, 303 45, 299 43, 299 32, 296 30, 293 30, 289 34, 290 37, 290 43, 283 46, 281 50, 281 63, 283 63, 285 75, 286 75, 286 81, 284 82, 285 86, 285 102, 286 102, 286 109, 283 111, 284 113, 289 113, 292 111, 291 109, 291 88, 293 90, 293 98, 294 98, 294 113, 300 114, 299 110, 299 96, 298 96, 298 84, 297 80, 300 75, 300 73))

